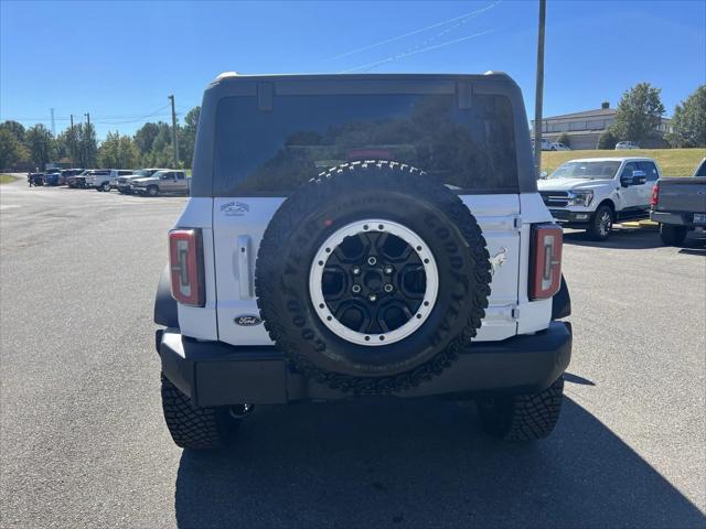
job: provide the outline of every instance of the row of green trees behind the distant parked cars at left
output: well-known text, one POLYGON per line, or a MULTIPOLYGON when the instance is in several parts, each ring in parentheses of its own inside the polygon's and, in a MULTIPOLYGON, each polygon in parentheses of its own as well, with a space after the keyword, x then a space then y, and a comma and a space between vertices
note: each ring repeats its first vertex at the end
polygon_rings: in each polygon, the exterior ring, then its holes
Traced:
MULTIPOLYGON (((176 125, 180 168, 191 165, 200 111, 201 107, 192 108, 183 125, 176 125)), ((132 136, 109 131, 99 142, 90 123, 68 127, 56 136, 42 123, 29 128, 12 120, 0 123, 0 170, 43 171, 49 162, 74 168, 170 168, 174 164, 172 127, 147 122, 132 136)))

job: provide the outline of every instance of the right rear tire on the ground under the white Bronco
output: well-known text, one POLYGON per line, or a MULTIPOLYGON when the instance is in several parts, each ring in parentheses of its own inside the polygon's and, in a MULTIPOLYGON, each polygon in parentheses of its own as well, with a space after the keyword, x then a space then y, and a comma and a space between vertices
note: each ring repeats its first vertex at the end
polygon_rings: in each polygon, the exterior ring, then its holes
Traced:
POLYGON ((544 391, 477 400, 483 430, 505 441, 536 441, 554 431, 561 400, 564 377, 544 391))

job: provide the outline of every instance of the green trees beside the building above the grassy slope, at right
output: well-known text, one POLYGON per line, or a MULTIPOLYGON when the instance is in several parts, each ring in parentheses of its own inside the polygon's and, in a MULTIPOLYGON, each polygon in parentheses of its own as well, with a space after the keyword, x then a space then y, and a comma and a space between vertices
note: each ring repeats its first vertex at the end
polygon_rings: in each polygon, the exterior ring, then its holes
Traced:
MULTIPOLYGON (((600 136, 598 148, 614 149, 619 141, 641 143, 657 138, 656 129, 665 112, 660 94, 661 89, 649 83, 628 89, 618 104, 614 121, 600 136)), ((570 145, 566 132, 557 141, 570 145)), ((706 147, 706 85, 676 106, 664 141, 673 148, 706 147)))

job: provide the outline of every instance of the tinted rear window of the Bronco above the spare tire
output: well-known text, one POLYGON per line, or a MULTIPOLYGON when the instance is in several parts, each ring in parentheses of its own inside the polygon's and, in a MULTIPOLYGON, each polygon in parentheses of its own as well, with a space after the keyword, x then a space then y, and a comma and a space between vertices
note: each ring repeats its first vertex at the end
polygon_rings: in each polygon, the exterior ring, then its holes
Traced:
POLYGON ((452 94, 276 96, 222 99, 216 118, 216 195, 287 196, 329 168, 394 160, 459 193, 517 191, 513 110, 505 96, 452 94))

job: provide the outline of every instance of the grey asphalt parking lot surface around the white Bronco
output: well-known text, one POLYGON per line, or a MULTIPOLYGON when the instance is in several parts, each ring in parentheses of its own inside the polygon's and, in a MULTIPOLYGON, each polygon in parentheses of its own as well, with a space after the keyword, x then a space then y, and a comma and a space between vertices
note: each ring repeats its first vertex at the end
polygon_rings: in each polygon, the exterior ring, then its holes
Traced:
POLYGON ((184 198, 0 187, 2 527, 706 527, 706 239, 565 237, 553 436, 469 403, 259 408, 223 452, 161 418, 152 300, 184 198))

